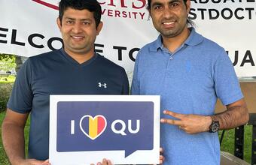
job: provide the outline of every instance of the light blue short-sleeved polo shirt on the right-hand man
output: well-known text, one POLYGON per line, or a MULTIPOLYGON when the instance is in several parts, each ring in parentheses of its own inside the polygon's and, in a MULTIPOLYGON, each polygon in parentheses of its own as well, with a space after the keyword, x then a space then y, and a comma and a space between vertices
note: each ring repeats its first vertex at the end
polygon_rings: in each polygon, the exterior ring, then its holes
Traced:
MULTIPOLYGON (((225 50, 190 28, 190 36, 175 51, 163 46, 161 35, 140 49, 133 74, 132 95, 160 95, 163 110, 212 115, 217 98, 224 105, 243 98, 232 62, 225 50)), ((220 163, 218 133, 187 134, 161 124, 160 145, 168 165, 220 163)))

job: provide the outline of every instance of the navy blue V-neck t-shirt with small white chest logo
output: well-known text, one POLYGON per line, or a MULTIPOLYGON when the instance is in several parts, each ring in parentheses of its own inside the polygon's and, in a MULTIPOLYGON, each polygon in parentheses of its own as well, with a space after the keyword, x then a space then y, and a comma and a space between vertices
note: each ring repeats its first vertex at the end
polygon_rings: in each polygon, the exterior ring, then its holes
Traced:
POLYGON ((29 157, 49 156, 50 95, 128 95, 126 72, 96 54, 83 64, 63 49, 29 58, 20 68, 8 108, 31 113, 29 157))

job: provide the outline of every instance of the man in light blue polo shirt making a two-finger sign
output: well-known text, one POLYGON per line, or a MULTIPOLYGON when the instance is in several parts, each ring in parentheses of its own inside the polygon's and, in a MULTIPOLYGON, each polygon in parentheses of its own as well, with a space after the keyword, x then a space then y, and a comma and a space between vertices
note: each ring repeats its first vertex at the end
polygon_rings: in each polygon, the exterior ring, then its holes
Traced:
POLYGON ((148 0, 159 37, 138 53, 133 95, 161 96, 164 164, 220 163, 218 129, 248 121, 232 62, 225 50, 189 28, 190 0, 148 0), (227 106, 214 114, 217 99, 227 106))

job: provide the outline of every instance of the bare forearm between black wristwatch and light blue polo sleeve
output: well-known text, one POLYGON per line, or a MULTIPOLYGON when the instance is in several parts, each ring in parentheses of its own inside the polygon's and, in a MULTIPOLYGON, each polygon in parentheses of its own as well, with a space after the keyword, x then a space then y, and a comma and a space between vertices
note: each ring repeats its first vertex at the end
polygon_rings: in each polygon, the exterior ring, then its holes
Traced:
POLYGON ((231 129, 246 124, 249 119, 246 105, 230 107, 223 113, 218 113, 211 117, 213 121, 219 121, 221 130, 231 129))

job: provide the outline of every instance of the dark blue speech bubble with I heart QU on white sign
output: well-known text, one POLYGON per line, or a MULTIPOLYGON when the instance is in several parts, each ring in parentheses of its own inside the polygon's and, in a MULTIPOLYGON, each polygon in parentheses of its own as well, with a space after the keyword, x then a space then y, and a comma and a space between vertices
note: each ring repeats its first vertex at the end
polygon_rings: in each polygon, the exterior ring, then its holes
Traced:
POLYGON ((151 101, 59 101, 57 104, 56 150, 59 152, 124 150, 128 157, 137 150, 152 150, 153 133, 151 101), (87 115, 104 116, 108 123, 95 139, 84 133, 96 134, 96 130, 87 130, 87 120, 81 120, 87 115))

